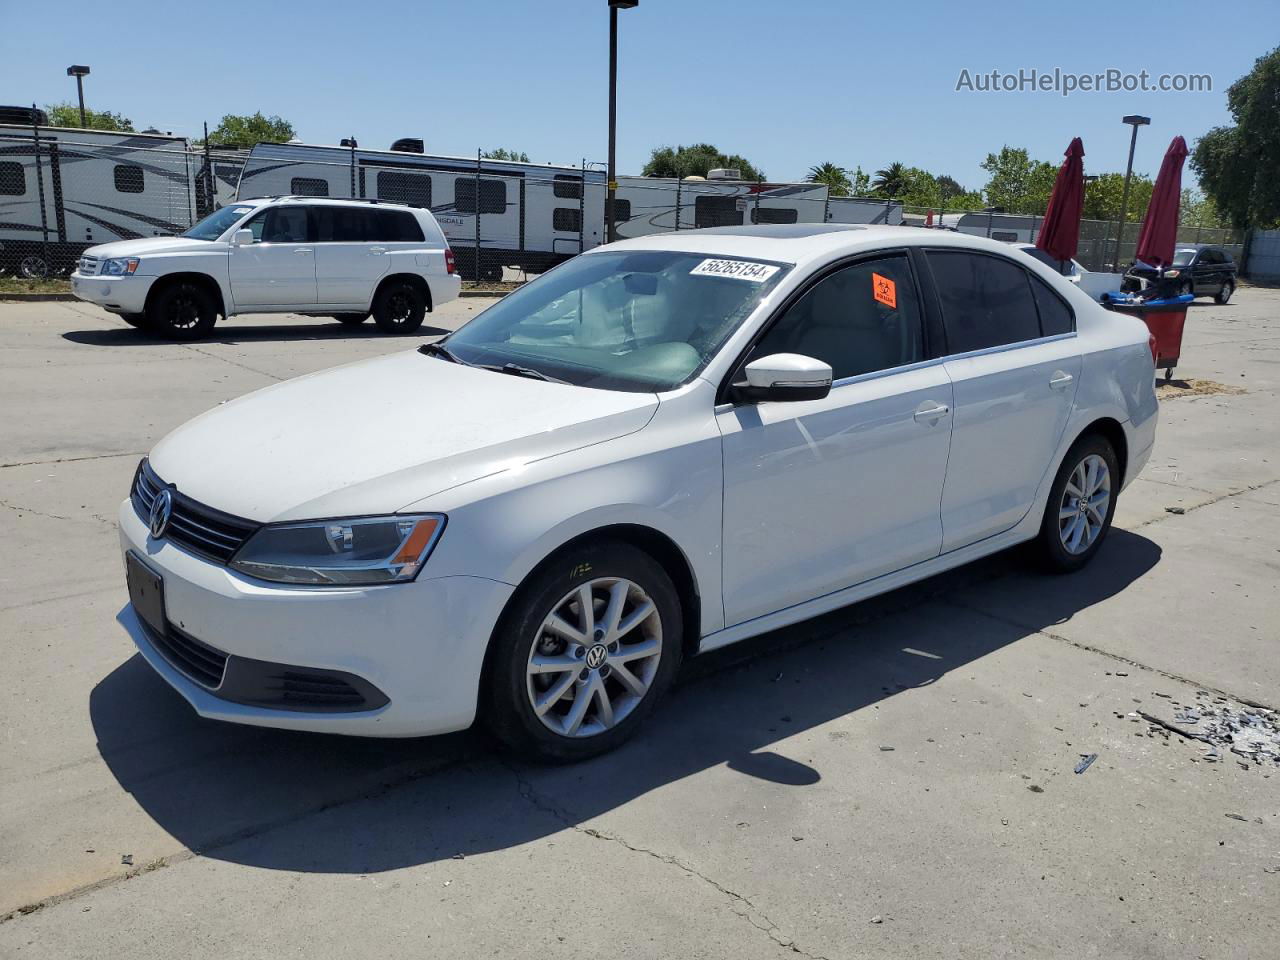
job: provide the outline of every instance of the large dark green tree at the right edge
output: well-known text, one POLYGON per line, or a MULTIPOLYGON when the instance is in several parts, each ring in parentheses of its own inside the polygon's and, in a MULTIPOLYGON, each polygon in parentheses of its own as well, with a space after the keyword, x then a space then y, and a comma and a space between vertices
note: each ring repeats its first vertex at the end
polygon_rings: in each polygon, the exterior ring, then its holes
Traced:
POLYGON ((1235 125, 1201 137, 1192 169, 1233 225, 1280 225, 1280 47, 1228 87, 1226 105, 1235 125))

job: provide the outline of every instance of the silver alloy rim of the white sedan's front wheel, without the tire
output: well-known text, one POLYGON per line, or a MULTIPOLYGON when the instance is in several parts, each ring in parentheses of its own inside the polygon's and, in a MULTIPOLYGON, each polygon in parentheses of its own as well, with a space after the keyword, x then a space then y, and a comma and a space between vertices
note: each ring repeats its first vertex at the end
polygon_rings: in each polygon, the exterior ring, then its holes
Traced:
POLYGON ((529 653, 529 705, 548 730, 590 737, 644 700, 662 659, 662 617, 622 577, 581 584, 552 607, 529 653))

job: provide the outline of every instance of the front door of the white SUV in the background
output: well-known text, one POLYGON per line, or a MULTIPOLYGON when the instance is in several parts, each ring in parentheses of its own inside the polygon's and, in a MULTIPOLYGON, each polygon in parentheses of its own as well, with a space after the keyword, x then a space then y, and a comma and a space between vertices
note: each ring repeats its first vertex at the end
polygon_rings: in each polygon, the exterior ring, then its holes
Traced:
POLYGON ((232 297, 236 308, 316 305, 315 244, 307 207, 268 207, 244 224, 253 243, 230 248, 232 297))

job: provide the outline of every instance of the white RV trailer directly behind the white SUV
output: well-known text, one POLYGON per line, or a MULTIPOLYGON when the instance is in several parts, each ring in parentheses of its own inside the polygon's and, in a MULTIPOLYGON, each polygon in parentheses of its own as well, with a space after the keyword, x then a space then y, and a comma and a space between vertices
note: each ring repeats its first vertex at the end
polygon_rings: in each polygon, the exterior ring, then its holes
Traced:
POLYGON ((503 266, 547 270, 603 243, 604 189, 604 173, 589 166, 259 143, 237 198, 358 197, 428 207, 463 276, 500 279, 503 266))

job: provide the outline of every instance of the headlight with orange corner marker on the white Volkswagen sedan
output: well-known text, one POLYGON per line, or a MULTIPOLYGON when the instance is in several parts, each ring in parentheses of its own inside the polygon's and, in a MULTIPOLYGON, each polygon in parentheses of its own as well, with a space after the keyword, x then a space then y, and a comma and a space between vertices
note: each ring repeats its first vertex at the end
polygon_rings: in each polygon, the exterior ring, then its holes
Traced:
POLYGON ((230 566, 278 584, 401 584, 417 576, 442 530, 439 513, 273 524, 230 566))

